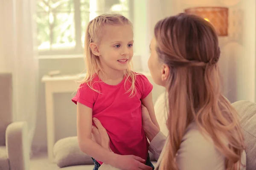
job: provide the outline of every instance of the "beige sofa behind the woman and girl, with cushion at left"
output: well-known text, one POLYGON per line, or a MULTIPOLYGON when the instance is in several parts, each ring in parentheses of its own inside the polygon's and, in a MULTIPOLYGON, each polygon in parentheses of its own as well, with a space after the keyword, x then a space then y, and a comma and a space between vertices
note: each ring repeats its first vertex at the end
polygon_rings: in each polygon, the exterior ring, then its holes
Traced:
MULTIPOLYGON (((166 128, 166 95, 161 94, 154 104, 157 121, 161 131, 167 135, 166 128)), ((247 170, 256 168, 256 104, 250 101, 238 101, 232 104, 238 111, 239 120, 244 130, 244 137, 247 144, 247 170)), ((55 162, 63 170, 92 170, 94 165, 90 156, 82 153, 78 146, 77 136, 67 137, 58 140, 54 145, 55 162), (79 166, 75 166, 79 165, 79 166)), ((151 161, 156 164, 154 156, 151 161)))

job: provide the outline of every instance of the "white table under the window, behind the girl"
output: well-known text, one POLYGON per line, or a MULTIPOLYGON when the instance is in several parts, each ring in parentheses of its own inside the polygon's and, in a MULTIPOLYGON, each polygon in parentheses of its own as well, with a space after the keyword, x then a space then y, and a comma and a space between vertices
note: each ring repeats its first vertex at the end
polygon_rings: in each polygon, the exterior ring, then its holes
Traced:
MULTIPOLYGON (((164 88, 156 85, 149 73, 143 73, 149 81, 154 85, 153 102, 156 101, 157 97, 163 93, 164 88)), ((50 77, 48 75, 43 76, 41 79, 45 83, 45 107, 46 107, 46 123, 47 123, 47 152, 48 159, 54 162, 53 156, 53 145, 55 143, 55 120, 54 120, 54 106, 53 106, 53 94, 55 93, 67 93, 74 92, 77 90, 79 84, 76 83, 77 79, 80 79, 78 75, 60 75, 50 77)))

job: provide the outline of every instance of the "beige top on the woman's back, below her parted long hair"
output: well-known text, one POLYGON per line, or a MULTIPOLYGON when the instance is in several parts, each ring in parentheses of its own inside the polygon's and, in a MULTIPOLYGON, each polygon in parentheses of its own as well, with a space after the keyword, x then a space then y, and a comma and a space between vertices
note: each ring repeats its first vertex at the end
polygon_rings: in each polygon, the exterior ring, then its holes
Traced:
POLYGON ((177 152, 177 163, 181 170, 221 170, 225 157, 217 150, 212 139, 202 134, 193 122, 189 125, 177 152))

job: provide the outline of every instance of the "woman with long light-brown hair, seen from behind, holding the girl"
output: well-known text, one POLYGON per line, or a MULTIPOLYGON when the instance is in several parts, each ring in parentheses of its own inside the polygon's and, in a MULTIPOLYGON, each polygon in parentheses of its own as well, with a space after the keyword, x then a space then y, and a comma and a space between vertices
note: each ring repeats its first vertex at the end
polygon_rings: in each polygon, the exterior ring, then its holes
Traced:
POLYGON ((245 170, 237 113, 220 93, 220 49, 212 25, 195 15, 167 17, 156 24, 150 48, 148 68, 154 82, 166 88, 169 101, 167 138, 143 108, 150 150, 159 158, 156 169, 245 170))

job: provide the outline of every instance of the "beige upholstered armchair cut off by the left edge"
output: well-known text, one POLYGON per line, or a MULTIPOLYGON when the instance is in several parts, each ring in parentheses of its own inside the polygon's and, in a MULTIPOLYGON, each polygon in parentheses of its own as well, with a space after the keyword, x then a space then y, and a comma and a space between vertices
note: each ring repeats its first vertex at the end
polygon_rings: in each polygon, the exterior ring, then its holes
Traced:
POLYGON ((12 119, 12 73, 0 73, 0 170, 29 170, 26 122, 12 119))

